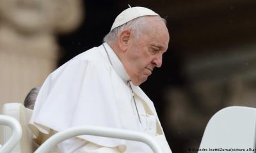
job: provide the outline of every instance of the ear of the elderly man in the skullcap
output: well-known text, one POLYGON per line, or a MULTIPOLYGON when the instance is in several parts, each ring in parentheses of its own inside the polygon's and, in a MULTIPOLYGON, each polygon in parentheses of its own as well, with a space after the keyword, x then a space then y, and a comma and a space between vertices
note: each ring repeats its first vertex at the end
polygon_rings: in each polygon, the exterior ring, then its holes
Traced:
POLYGON ((124 29, 118 37, 118 46, 122 52, 125 52, 128 47, 128 42, 131 39, 131 29, 124 29))

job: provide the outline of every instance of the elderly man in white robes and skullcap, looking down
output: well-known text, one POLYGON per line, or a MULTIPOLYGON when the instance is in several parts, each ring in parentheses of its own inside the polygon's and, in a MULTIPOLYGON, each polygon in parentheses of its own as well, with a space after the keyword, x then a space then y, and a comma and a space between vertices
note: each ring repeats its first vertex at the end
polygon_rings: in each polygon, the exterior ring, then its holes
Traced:
MULTIPOLYGON (((169 43, 165 20, 148 8, 132 7, 116 17, 104 43, 77 55, 45 81, 30 120, 49 134, 75 126, 141 131, 171 152, 152 101, 140 85, 162 64, 169 43)), ((140 142, 77 136, 61 152, 152 152, 140 142)))

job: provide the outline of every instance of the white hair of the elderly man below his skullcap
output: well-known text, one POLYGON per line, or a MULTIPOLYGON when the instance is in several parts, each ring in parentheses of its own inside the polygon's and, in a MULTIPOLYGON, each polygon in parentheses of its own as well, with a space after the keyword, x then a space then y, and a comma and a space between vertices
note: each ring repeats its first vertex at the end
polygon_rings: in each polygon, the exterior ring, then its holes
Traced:
MULTIPOLYGON (((164 18, 161 18, 159 16, 154 16, 159 18, 160 20, 163 20, 163 22, 166 24, 166 20, 164 18)), ((107 42, 109 44, 114 43, 117 41, 118 36, 124 29, 131 29, 132 33, 135 35, 136 39, 138 40, 140 38, 141 31, 145 29, 145 27, 150 26, 150 22, 148 21, 147 16, 134 18, 133 20, 120 25, 119 27, 116 27, 112 31, 110 31, 103 39, 104 42, 107 42)))

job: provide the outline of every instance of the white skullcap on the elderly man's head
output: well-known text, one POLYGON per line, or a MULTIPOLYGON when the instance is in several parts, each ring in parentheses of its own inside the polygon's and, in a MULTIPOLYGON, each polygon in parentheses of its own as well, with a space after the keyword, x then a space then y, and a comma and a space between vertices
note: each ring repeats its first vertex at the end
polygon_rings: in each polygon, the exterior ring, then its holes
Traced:
POLYGON ((116 17, 110 31, 112 31, 116 27, 119 27, 120 25, 123 25, 129 22, 130 20, 133 20, 134 18, 138 18, 142 16, 159 16, 159 15, 148 8, 144 8, 140 6, 136 6, 132 8, 130 7, 122 11, 122 13, 120 13, 116 17))

